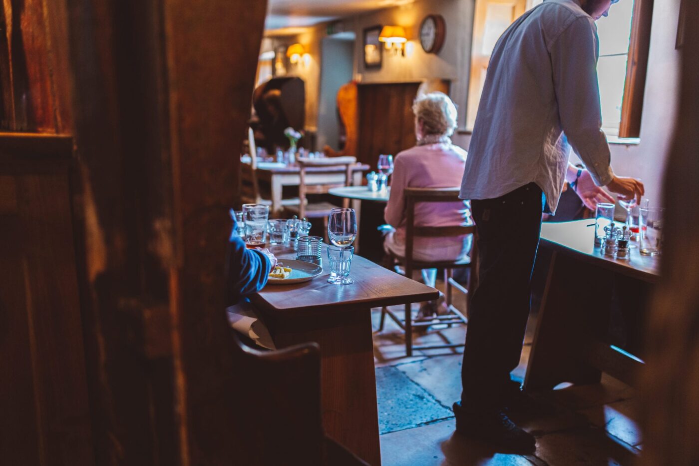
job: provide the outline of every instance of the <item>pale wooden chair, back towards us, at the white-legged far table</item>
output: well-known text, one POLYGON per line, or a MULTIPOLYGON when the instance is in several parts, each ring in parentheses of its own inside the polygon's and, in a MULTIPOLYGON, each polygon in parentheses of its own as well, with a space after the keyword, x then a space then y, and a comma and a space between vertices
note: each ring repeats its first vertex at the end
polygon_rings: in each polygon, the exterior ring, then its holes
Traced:
MULTIPOLYGON (((325 230, 328 227, 328 218, 330 211, 338 206, 330 202, 308 202, 306 198, 309 194, 326 194, 331 188, 340 186, 352 186, 352 167, 356 164, 356 157, 326 157, 319 159, 298 158, 296 160, 300 171, 298 176, 298 205, 285 206, 284 210, 291 215, 296 215, 298 218, 323 218, 325 230), (319 167, 320 169, 337 169, 343 167, 345 169, 345 181, 343 183, 326 183, 320 185, 309 185, 306 183, 308 169, 311 167, 319 167)), ((349 206, 349 199, 343 199, 343 207, 349 206)))

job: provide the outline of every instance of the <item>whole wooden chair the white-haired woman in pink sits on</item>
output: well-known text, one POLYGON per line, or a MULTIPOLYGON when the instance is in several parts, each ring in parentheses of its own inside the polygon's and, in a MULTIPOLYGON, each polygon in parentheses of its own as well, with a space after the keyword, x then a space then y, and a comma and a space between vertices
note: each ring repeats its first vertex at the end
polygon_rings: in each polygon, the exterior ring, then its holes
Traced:
POLYGON ((421 262, 414 260, 413 245, 415 238, 431 237, 431 238, 448 238, 453 236, 461 236, 463 234, 474 234, 475 226, 454 226, 454 227, 418 227, 415 225, 415 204, 417 202, 459 202, 459 188, 406 188, 405 189, 405 204, 407 211, 407 224, 405 227, 405 257, 396 257, 391 255, 394 262, 402 264, 405 268, 405 276, 412 277, 412 271, 421 269, 444 269, 445 281, 445 302, 447 305, 447 313, 442 316, 431 316, 428 318, 420 318, 413 320, 410 311, 410 304, 405 304, 405 318, 401 319, 396 316, 396 313, 384 307, 381 310, 381 320, 379 323, 379 331, 384 328, 384 320, 386 315, 393 319, 401 329, 405 331, 405 353, 408 356, 412 355, 414 349, 433 349, 433 348, 456 348, 463 346, 459 344, 439 344, 439 345, 424 345, 413 346, 412 344, 412 329, 413 327, 429 327, 431 325, 446 324, 451 327, 454 324, 466 324, 468 322, 466 316, 456 309, 452 304, 452 290, 463 292, 468 297, 468 290, 475 285, 475 267, 477 250, 476 243, 473 241, 470 257, 459 261, 434 261, 421 262), (465 288, 459 282, 452 278, 454 269, 471 269, 468 286, 465 288), (438 321, 438 322, 435 322, 438 321))

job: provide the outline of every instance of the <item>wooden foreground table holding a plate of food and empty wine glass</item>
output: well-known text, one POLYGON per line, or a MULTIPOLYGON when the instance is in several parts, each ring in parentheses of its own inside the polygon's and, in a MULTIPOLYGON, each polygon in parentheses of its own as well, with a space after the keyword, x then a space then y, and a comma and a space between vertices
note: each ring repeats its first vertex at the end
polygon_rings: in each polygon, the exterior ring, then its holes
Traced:
MULTIPOLYGON (((296 255, 284 246, 271 249, 280 259, 296 255)), ((267 285, 251 301, 278 348, 320 345, 325 432, 370 465, 380 465, 370 310, 437 299, 438 291, 358 255, 350 271, 354 283, 332 285, 327 261, 324 246, 323 274, 296 285, 267 285)))

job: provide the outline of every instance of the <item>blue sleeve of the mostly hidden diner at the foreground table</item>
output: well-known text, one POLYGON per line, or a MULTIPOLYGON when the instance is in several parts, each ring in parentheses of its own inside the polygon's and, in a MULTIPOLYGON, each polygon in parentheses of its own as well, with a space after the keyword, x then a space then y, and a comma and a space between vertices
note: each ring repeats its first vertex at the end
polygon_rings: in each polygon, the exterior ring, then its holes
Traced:
POLYGON ((264 254, 247 249, 236 233, 236 220, 228 243, 226 257, 227 306, 238 304, 241 298, 261 290, 267 283, 271 263, 264 254))

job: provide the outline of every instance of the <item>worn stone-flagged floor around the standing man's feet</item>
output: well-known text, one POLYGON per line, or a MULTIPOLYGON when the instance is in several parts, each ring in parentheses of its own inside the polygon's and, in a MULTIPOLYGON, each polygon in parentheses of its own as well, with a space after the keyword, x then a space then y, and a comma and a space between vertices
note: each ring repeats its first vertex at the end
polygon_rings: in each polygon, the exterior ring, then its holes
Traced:
MULTIPOLYGON (((377 328, 380 310, 372 314, 377 328)), ((534 326, 531 318, 514 372, 519 379, 526 371, 534 326)), ((465 327, 431 330, 415 342, 458 342, 465 334, 465 327)), ((533 394, 536 414, 512 418, 535 435, 537 449, 532 456, 518 456, 496 453, 454 433, 451 407, 461 395, 461 348, 415 351, 407 358, 403 333, 388 318, 384 332, 374 334, 374 348, 384 466, 630 465, 641 449, 633 420, 634 390, 610 376, 596 385, 562 385, 533 394)))

